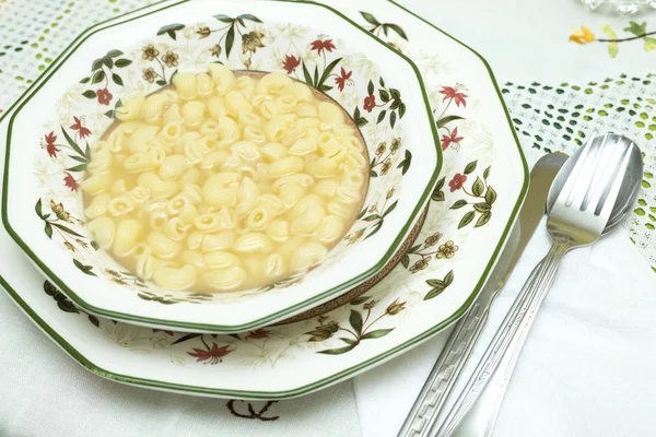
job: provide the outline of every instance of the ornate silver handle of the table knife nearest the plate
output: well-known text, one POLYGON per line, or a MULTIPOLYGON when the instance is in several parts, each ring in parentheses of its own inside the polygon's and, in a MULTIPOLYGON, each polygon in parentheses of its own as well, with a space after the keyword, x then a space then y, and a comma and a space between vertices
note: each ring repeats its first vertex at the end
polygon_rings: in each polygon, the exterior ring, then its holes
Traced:
POLYGON ((485 324, 488 311, 489 305, 477 299, 469 311, 458 320, 399 430, 398 437, 426 437, 429 435, 485 324))

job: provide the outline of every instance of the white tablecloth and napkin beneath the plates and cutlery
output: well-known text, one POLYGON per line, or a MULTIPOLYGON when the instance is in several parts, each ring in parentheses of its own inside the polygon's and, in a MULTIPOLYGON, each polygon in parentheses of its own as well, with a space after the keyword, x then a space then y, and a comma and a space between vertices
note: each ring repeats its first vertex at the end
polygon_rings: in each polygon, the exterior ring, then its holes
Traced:
MULTIPOLYGON (((0 0, 0 39, 7 44, 0 48, 0 111, 92 22, 148 3, 152 1, 0 0)), ((645 150, 647 168, 656 168, 647 137, 651 121, 641 127, 630 118, 642 111, 654 116, 656 101, 649 98, 656 98, 656 88, 648 74, 656 55, 646 51, 642 40, 622 43, 616 58, 609 56, 608 44, 567 43, 570 27, 582 25, 597 39, 605 37, 605 24, 625 37, 629 19, 588 13, 576 0, 402 3, 487 57, 504 86, 513 118, 520 122, 515 121, 529 162, 564 146, 561 132, 547 128, 535 108, 572 108, 584 103, 597 113, 606 103, 626 98, 628 108, 642 105, 635 115, 629 116, 628 110, 621 115, 619 113, 594 117, 583 129, 628 132, 645 150), (607 79, 612 86, 599 87, 607 79), (589 94, 572 85, 585 88, 589 82, 596 83, 589 85, 594 87, 589 94), (537 91, 531 93, 528 88, 535 83, 537 91), (564 92, 554 94, 560 85, 564 92)), ((656 25, 653 15, 633 20, 639 24, 651 20, 656 25)), ((497 436, 654 435, 656 277, 649 263, 656 264, 656 245, 649 241, 656 234, 647 225, 649 215, 656 215, 656 209, 649 210, 656 206, 656 196, 646 181, 648 187, 641 193, 644 204, 636 208, 624 229, 565 258, 522 355, 497 436)), ((469 367, 547 247, 546 233, 538 233, 492 308, 469 367)), ((272 403, 261 416, 278 418, 261 421, 231 414, 227 401, 163 394, 102 380, 69 359, 3 294, 0 307, 0 436, 9 437, 394 436, 446 339, 442 334, 354 381, 272 403)), ((256 412, 267 406, 253 404, 256 412)), ((232 408, 239 412, 246 405, 237 402, 232 408)))

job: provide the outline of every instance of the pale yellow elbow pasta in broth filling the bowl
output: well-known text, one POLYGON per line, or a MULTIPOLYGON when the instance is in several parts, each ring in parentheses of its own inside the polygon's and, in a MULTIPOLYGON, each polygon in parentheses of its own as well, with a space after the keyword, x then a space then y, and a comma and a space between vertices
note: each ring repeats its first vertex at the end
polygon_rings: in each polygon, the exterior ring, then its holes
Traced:
POLYGON ((367 189, 351 118, 281 73, 212 63, 172 83, 124 98, 92 145, 93 240, 166 290, 266 286, 320 262, 367 189))

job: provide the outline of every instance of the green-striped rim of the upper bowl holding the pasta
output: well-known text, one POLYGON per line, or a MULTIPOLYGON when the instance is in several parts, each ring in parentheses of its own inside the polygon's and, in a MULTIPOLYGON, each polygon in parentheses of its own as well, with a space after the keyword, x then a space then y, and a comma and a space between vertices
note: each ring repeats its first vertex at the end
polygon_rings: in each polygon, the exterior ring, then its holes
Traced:
MULTIPOLYGON (((396 253, 396 251, 398 250, 398 247, 400 246, 400 244, 402 244, 406 234, 411 228, 413 223, 417 221, 417 218, 421 214, 425 203, 429 201, 430 196, 435 187, 435 184, 437 182, 437 178, 442 170, 442 165, 443 165, 442 147, 441 147, 440 137, 438 137, 437 129, 435 126, 435 120, 434 120, 434 117, 432 114, 425 84, 423 82, 423 79, 421 76, 419 68, 414 64, 414 62, 410 58, 408 58, 406 55, 398 51, 397 49, 390 47, 385 42, 383 42, 382 39, 379 39, 378 37, 373 35, 372 33, 367 32, 362 26, 356 24, 353 20, 349 19, 348 16, 342 14, 340 11, 336 10, 335 8, 332 8, 330 5, 317 3, 312 0, 277 0, 282 3, 304 3, 304 4, 323 8, 325 10, 330 11, 332 14, 335 14, 339 19, 341 19, 347 25, 355 27, 362 34, 367 35, 374 42, 380 44, 384 48, 390 50, 395 56, 399 57, 402 61, 407 62, 410 66, 410 68, 412 69, 412 71, 414 72, 415 80, 417 80, 417 83, 419 84, 421 96, 422 96, 422 99, 423 99, 423 103, 424 103, 424 106, 426 109, 426 115, 427 115, 429 121, 431 122, 431 134, 433 135, 433 140, 434 140, 433 145, 435 146, 435 167, 434 167, 430 178, 427 179, 427 182, 425 185, 423 192, 421 193, 421 196, 419 198, 419 201, 417 202, 417 204, 414 205, 412 211, 409 213, 408 220, 406 221, 406 223, 403 224, 402 227, 397 229, 398 235, 391 241, 391 244, 389 245, 386 252, 383 253, 379 257, 378 261, 375 264, 373 264, 371 268, 368 268, 367 270, 362 271, 358 275, 351 277, 349 281, 342 282, 331 288, 325 290, 321 293, 314 294, 304 300, 301 300, 296 304, 286 306, 276 312, 268 314, 267 316, 262 316, 258 319, 249 320, 248 322, 243 322, 243 323, 238 323, 238 324, 218 324, 218 323, 207 323, 207 322, 180 321, 180 320, 173 320, 171 318, 161 319, 161 318, 156 318, 156 317, 147 317, 147 316, 140 316, 138 314, 128 314, 128 312, 117 311, 117 310, 113 310, 113 309, 106 309, 103 307, 97 307, 97 306, 89 304, 83 297, 81 297, 79 294, 77 294, 72 290, 74 287, 67 285, 67 283, 57 275, 57 273, 54 271, 54 270, 57 270, 56 265, 55 265, 55 269, 51 269, 50 268, 50 265, 52 265, 51 263, 48 263, 48 262, 42 260, 31 249, 30 245, 26 244, 21 238, 19 233, 11 225, 11 222, 9 218, 9 205, 10 205, 10 202, 9 202, 9 193, 10 193, 9 167, 10 167, 10 161, 11 161, 10 157, 11 157, 11 152, 12 152, 11 134, 12 134, 13 122, 14 122, 15 117, 20 114, 21 109, 32 99, 32 97, 35 96, 35 94, 44 86, 44 84, 48 82, 48 80, 52 76, 52 74, 56 73, 59 70, 59 68, 61 66, 63 66, 66 63, 66 61, 73 54, 75 54, 78 51, 78 49, 84 44, 84 42, 86 39, 89 39, 92 35, 95 35, 99 32, 110 29, 112 27, 115 27, 115 26, 118 26, 121 24, 126 24, 126 23, 129 23, 131 21, 144 17, 148 15, 156 14, 168 8, 178 7, 178 5, 188 3, 188 1, 189 0, 181 0, 179 2, 166 4, 161 9, 149 11, 142 15, 129 17, 125 21, 114 22, 114 23, 110 23, 107 25, 105 25, 105 23, 99 23, 95 26, 87 27, 86 29, 82 31, 81 34, 67 48, 65 48, 62 50, 63 57, 61 59, 59 59, 60 57, 58 57, 58 59, 57 59, 57 60, 59 60, 59 63, 57 66, 54 66, 54 68, 51 70, 49 69, 46 72, 44 72, 44 76, 46 74, 47 74, 47 76, 45 76, 43 79, 43 82, 40 82, 34 90, 27 91, 27 93, 30 93, 30 94, 26 95, 24 99, 22 99, 22 102, 15 108, 15 110, 13 111, 13 114, 11 115, 11 117, 9 119, 7 144, 5 144, 7 151, 5 151, 5 163, 4 163, 4 175, 3 175, 3 188, 2 188, 2 223, 4 225, 4 228, 9 233, 9 235, 12 237, 12 239, 19 245, 19 247, 31 259, 31 261, 37 267, 37 269, 40 270, 48 279, 50 279, 61 290, 61 292, 65 295, 67 295, 77 306, 79 306, 80 308, 82 308, 89 312, 96 314, 96 315, 103 316, 103 317, 117 319, 117 320, 127 321, 127 322, 133 322, 133 323, 145 324, 145 326, 155 326, 155 327, 167 327, 167 328, 174 328, 177 330, 189 330, 189 331, 198 331, 198 332, 215 332, 215 333, 243 332, 243 331, 261 328, 263 326, 270 324, 278 320, 282 320, 283 318, 289 317, 290 315, 293 315, 297 311, 301 311, 304 308, 311 308, 311 307, 317 305, 318 303, 325 300, 326 298, 329 298, 330 296, 335 296, 335 295, 338 295, 339 293, 351 290, 354 285, 365 281, 367 277, 371 277, 377 271, 379 271, 385 265, 385 263, 389 260, 389 258, 396 253), (93 32, 87 33, 91 29, 93 29, 93 32), (69 51, 69 49, 70 49, 70 51, 69 51)), ((427 144, 425 146, 427 146, 427 144)))

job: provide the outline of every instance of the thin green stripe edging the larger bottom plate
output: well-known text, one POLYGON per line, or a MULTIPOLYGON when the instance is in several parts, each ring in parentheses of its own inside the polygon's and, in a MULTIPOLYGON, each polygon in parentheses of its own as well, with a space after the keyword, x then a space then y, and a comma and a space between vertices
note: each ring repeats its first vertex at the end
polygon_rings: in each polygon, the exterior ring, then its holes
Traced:
MULTIPOLYGON (((403 11, 410 13, 411 15, 418 17, 419 20, 423 21, 424 23, 429 24, 431 27, 440 31, 441 33, 443 33, 444 35, 446 35, 447 37, 456 40, 459 44, 462 44, 460 42, 458 42, 456 38, 452 37, 450 35, 442 32, 440 28, 435 27, 433 24, 429 23, 427 21, 421 19, 420 16, 418 16, 417 14, 412 13, 411 11, 408 11, 406 8, 397 4, 396 2, 388 0, 390 3, 395 4, 396 7, 402 9, 403 11)), ((485 67, 488 68, 488 72, 490 73, 490 79, 492 80, 492 83, 496 90, 496 93, 502 102, 504 111, 506 113, 506 118, 508 120, 508 126, 513 127, 512 121, 511 121, 511 117, 507 111, 507 108, 505 106, 505 103, 503 102, 503 98, 501 96, 501 93, 499 91, 499 86, 496 83, 496 80, 494 79, 494 75, 492 74, 492 71, 490 69, 490 66, 488 64, 488 62, 475 50, 472 50, 470 47, 466 46, 462 44, 462 46, 467 47, 469 50, 471 50, 479 59, 481 59, 483 61, 483 63, 485 64, 485 67)), ((10 108, 11 110, 11 108, 10 108)), ((9 110, 8 110, 9 113, 9 110)), ((0 121, 2 119, 0 118, 0 121)), ((524 197, 526 196, 526 191, 528 189, 528 167, 526 165, 526 161, 524 158, 524 154, 522 153, 522 147, 519 145, 519 141, 517 140, 517 135, 515 134, 514 129, 512 129, 513 131, 513 135, 515 138, 515 142, 516 145, 518 147, 519 154, 520 154, 520 158, 522 162, 524 164, 524 184, 523 184, 523 189, 520 192, 520 196, 515 204, 515 208, 512 212, 512 215, 508 220, 508 224, 506 225, 503 235, 501 236, 496 248, 494 250, 494 253, 492 255, 492 258, 490 259, 490 262, 488 263, 488 267, 485 268, 485 270, 483 271, 481 279, 479 280, 479 283, 477 284, 477 286, 475 287, 475 290, 472 291, 472 293, 470 294, 469 298, 467 299, 467 302, 460 307, 458 308, 458 310, 456 312, 454 312, 448 319, 443 320, 441 323, 434 326, 433 328, 424 331, 423 333, 408 340, 406 343, 400 344, 389 351, 386 351, 382 354, 378 354, 370 359, 367 359, 364 363, 361 363, 359 365, 355 365, 353 367, 350 367, 348 369, 344 369, 340 373, 337 373, 330 377, 324 378, 319 381, 313 382, 311 385, 304 386, 304 387, 300 387, 296 388, 294 390, 288 390, 288 391, 283 391, 283 392, 262 392, 262 391, 241 391, 241 390, 222 390, 222 389, 210 389, 210 388, 204 388, 204 387, 197 387, 197 386, 184 386, 184 385, 176 385, 176 383, 169 383, 169 382, 164 382, 164 381, 155 381, 152 379, 144 379, 144 378, 136 378, 136 377, 131 377, 131 376, 127 376, 127 375, 119 375, 119 374, 114 374, 112 371, 105 370, 102 367, 96 366, 93 362, 89 361, 86 357, 84 357, 82 354, 80 354, 70 343, 68 343, 66 340, 63 340, 55 330, 52 330, 52 328, 50 328, 40 317, 38 317, 38 315, 36 315, 34 312, 34 310, 32 310, 32 308, 30 308, 30 306, 27 304, 25 304, 25 302, 20 297, 20 295, 7 283, 7 281, 4 281, 4 279, 0 275, 0 285, 2 285, 7 292, 10 294, 10 296, 16 302, 16 304, 19 304, 21 306, 21 308, 30 316, 32 317, 32 319, 34 320, 35 323, 37 323, 49 336, 51 336, 57 343, 59 343, 59 345, 68 353, 70 354, 73 358, 75 358, 75 361, 78 361, 81 365, 83 365, 84 367, 86 367, 87 369, 90 369, 91 371, 95 373, 98 376, 102 376, 104 378, 107 379, 113 379, 116 381, 120 381, 120 382, 126 382, 126 383, 132 383, 132 385, 139 385, 139 386, 143 386, 143 387, 151 387, 151 388, 163 388, 163 389, 168 389, 168 390, 175 390, 175 391, 181 391, 181 392, 191 392, 191 393, 199 393, 199 394, 214 394, 214 395, 223 395, 223 397, 243 397, 243 398, 250 398, 250 399, 283 399, 283 398, 290 398, 290 397, 295 397, 295 395, 301 395, 301 394, 306 394, 309 391, 323 388, 329 383, 336 382, 340 379, 344 379, 347 377, 352 376, 353 374, 355 374, 356 371, 360 371, 366 367, 368 367, 370 365, 373 365, 377 362, 380 362, 383 359, 387 359, 389 357, 391 357, 393 355, 402 352, 403 350, 406 350, 407 347, 410 347, 412 345, 415 345, 417 343, 420 343, 424 340, 426 340, 427 338, 430 338, 431 335, 440 332, 442 329, 446 328, 449 323, 454 322, 455 320, 457 320, 459 317, 461 317, 465 311, 467 310, 467 308, 469 308, 471 302, 476 298, 476 296, 478 295, 478 292, 480 291, 480 288, 482 287, 482 285, 484 284, 484 281, 488 276, 488 274, 490 273, 490 270, 492 269, 492 267, 494 265, 496 258, 499 257, 499 253, 506 240, 506 237, 513 226, 514 220, 519 211, 519 208, 522 205, 522 202, 524 200, 524 197)))

